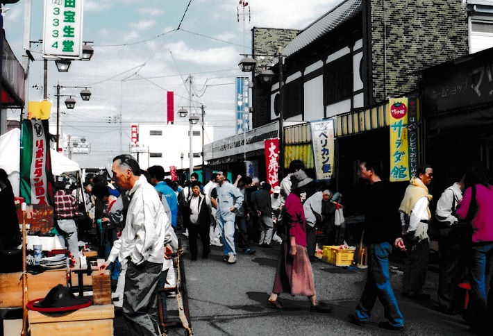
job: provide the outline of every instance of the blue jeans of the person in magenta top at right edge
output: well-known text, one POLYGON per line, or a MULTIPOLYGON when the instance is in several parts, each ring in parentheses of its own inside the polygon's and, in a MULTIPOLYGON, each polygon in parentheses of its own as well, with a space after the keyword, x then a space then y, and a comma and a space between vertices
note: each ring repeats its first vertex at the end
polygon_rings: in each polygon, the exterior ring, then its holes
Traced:
POLYGON ((488 287, 492 276, 493 242, 473 243, 469 258, 472 326, 481 330, 487 321, 488 287))

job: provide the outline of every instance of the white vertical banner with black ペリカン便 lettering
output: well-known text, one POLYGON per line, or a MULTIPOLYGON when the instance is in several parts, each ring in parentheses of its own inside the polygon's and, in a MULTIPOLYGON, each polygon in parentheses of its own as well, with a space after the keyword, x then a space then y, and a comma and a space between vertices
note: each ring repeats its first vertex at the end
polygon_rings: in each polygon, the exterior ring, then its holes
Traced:
POLYGON ((310 121, 317 180, 330 180, 334 173, 334 120, 310 121))

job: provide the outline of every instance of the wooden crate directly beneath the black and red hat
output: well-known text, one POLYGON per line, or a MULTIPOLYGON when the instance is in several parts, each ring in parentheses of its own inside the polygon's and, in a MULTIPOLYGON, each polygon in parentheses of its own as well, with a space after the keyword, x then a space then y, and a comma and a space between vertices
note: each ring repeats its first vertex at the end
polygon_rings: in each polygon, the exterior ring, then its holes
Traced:
POLYGON ((31 336, 113 335, 113 305, 91 305, 87 308, 58 314, 29 311, 31 336))

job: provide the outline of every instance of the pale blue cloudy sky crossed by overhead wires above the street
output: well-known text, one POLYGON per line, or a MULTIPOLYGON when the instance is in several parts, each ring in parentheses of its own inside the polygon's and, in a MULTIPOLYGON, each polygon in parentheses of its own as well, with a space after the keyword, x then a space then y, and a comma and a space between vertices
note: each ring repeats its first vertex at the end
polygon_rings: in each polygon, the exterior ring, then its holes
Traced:
MULTIPOLYGON (((37 41, 42 40, 44 1, 32 2, 30 40, 37 41)), ((189 106, 185 83, 189 75, 194 78, 191 105, 204 104, 206 125, 214 127, 214 138, 234 135, 234 83, 237 76, 245 75, 237 64, 240 54, 251 53, 251 29, 303 29, 342 0, 249 0, 250 22, 248 16, 243 22, 238 2, 85 0, 83 41, 93 42, 92 60, 72 62, 67 73, 58 72, 54 62, 49 62, 48 68, 52 133, 56 132, 57 82, 91 87, 90 101, 81 100, 81 89, 67 87, 60 92, 76 99, 75 108, 67 110, 67 97, 60 96, 62 133, 85 137, 91 144, 90 154, 74 153, 72 160, 84 168, 104 167, 122 151, 128 153, 131 124, 166 123, 167 91, 175 94, 175 111, 189 106)), ((24 8, 24 0, 3 6, 6 38, 21 64, 25 55, 24 8)), ((41 51, 41 44, 31 44, 36 59, 29 72, 31 101, 43 96, 41 51)), ((10 110, 8 117, 18 119, 19 110, 10 110)), ((175 115, 175 124, 187 125, 187 118, 180 120, 175 115)))

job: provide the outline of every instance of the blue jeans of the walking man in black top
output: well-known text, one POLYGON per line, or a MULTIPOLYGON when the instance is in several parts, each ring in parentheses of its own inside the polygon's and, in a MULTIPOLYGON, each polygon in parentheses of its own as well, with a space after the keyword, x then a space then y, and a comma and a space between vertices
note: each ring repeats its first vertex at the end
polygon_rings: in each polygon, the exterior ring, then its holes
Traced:
POLYGON ((388 242, 367 245, 368 270, 365 289, 360 302, 356 306, 356 317, 366 321, 370 317, 371 309, 376 298, 383 305, 383 316, 392 326, 403 326, 404 319, 397 305, 394 291, 390 286, 389 255, 392 245, 388 242))

